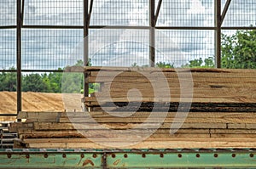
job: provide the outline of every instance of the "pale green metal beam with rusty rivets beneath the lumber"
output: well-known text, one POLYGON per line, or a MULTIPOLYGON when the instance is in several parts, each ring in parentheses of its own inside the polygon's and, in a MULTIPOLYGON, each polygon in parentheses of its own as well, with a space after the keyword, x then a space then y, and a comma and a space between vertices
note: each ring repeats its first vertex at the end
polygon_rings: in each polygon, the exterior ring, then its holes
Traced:
POLYGON ((256 149, 0 149, 0 168, 256 167, 256 149))

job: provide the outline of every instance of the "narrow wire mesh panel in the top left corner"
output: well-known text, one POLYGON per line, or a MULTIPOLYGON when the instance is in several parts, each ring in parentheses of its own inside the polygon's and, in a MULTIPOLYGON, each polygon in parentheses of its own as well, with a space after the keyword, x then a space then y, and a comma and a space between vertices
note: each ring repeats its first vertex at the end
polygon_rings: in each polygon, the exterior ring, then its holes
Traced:
POLYGON ((0 1, 0 26, 16 25, 16 6, 15 0, 0 1))

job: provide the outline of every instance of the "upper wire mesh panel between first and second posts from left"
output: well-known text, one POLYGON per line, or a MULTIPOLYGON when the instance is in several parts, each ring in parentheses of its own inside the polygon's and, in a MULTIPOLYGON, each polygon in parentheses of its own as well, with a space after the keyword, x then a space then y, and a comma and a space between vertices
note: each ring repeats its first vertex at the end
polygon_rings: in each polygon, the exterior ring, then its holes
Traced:
POLYGON ((26 0, 24 25, 83 25, 83 2, 83 0, 26 0))

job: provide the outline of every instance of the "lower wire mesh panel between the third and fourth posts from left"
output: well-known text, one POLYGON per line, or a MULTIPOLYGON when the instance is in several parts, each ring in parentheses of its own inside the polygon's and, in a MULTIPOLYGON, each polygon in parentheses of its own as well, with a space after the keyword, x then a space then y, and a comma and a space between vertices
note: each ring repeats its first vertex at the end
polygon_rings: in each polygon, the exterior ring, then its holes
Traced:
POLYGON ((194 59, 213 59, 214 31, 158 30, 156 49, 156 62, 166 62, 175 67, 185 66, 194 59))

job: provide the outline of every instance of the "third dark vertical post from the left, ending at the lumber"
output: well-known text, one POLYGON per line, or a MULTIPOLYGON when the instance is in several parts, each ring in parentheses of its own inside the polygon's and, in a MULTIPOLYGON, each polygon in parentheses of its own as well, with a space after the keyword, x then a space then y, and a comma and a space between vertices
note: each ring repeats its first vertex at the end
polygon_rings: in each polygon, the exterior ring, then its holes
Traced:
POLYGON ((154 67, 155 65, 155 16, 154 16, 154 0, 149 0, 149 65, 154 67))

